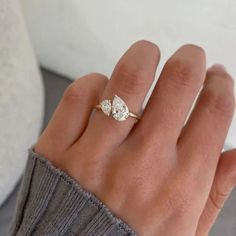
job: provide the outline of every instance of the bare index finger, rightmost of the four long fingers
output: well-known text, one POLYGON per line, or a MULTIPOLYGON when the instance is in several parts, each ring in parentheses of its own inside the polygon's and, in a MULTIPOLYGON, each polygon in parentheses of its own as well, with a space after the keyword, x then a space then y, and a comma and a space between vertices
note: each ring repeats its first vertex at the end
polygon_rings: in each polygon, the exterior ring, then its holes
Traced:
MULTIPOLYGON (((178 142, 190 171, 212 181, 235 109, 233 80, 219 66, 208 70, 196 106, 178 142)), ((206 186, 208 182, 206 181, 206 186)), ((201 182, 201 181, 200 181, 201 182)))

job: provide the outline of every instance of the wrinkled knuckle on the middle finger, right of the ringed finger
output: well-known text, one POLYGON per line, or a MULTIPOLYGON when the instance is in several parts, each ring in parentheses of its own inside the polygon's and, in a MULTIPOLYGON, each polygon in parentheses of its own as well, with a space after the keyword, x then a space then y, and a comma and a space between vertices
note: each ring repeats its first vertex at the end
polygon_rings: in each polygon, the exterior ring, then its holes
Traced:
POLYGON ((167 76, 177 86, 189 87, 198 77, 198 71, 190 60, 175 57, 166 63, 167 76))

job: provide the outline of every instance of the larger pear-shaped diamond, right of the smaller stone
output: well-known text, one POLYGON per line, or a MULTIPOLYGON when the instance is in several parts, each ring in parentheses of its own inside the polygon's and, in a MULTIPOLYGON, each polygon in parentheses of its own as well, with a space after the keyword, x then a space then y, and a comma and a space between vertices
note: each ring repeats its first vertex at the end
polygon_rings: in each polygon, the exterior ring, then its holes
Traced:
POLYGON ((126 120, 129 117, 129 108, 117 95, 112 101, 112 116, 118 121, 126 120))

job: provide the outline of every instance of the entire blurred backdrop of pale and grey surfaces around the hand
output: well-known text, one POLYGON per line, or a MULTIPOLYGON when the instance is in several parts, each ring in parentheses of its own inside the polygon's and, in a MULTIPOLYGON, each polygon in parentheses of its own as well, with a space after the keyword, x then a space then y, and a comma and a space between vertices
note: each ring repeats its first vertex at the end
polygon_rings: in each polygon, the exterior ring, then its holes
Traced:
MULTIPOLYGON (((147 39, 165 60, 182 44, 223 63, 236 78, 234 0, 0 0, 0 235, 27 157, 65 88, 90 72, 110 75, 123 52, 147 39)), ((236 146, 236 117, 225 149, 236 146)), ((212 236, 236 235, 236 193, 212 236)))

